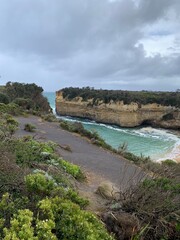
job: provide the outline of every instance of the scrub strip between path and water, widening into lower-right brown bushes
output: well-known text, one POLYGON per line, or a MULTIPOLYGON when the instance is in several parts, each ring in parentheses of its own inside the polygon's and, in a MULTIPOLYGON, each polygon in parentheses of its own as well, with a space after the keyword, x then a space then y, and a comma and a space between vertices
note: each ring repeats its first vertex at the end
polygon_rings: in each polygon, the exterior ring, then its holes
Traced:
MULTIPOLYGON (((96 139, 101 142, 97 133, 88 132, 80 123, 61 121, 60 126, 91 140, 95 135, 96 139)), ((141 179, 136 185, 119 190, 118 200, 111 202, 107 212, 102 214, 108 230, 113 232, 118 240, 178 240, 180 234, 180 164, 172 160, 166 160, 160 164, 152 162, 148 157, 135 156, 127 152, 126 143, 118 150, 106 144, 101 146, 121 154, 141 166, 142 171, 150 173, 148 178, 141 179)))

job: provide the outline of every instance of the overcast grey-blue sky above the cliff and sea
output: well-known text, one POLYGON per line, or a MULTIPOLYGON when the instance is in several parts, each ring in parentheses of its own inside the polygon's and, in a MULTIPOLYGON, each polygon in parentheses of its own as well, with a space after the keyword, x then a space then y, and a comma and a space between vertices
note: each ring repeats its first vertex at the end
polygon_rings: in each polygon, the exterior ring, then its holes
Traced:
POLYGON ((176 91, 180 0, 0 0, 0 85, 176 91))

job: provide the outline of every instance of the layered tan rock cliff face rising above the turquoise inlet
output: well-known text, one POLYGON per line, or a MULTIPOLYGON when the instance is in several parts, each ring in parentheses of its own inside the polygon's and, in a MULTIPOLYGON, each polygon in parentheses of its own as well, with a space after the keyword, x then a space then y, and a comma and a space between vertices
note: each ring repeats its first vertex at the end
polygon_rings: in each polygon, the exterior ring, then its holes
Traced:
POLYGON ((56 92, 56 112, 60 115, 83 117, 97 122, 116 124, 122 127, 136 127, 143 123, 163 128, 180 129, 180 109, 158 104, 124 104, 122 101, 108 104, 102 101, 93 104, 93 99, 82 101, 63 98, 61 91, 56 92))

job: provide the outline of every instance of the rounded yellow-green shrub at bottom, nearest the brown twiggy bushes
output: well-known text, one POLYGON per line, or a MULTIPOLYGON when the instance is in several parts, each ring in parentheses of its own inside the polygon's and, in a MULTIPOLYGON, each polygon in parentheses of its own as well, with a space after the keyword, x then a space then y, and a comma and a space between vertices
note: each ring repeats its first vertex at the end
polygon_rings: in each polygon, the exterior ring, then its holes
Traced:
POLYGON ((62 240, 112 240, 102 223, 91 213, 76 204, 58 197, 44 199, 39 203, 39 214, 54 219, 56 236, 62 240))

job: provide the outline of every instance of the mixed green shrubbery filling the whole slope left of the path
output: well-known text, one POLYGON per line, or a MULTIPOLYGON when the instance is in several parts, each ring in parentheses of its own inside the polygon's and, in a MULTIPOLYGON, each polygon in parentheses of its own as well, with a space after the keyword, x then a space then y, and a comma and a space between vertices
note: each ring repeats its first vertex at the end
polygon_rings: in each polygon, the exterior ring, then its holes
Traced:
POLYGON ((0 118, 0 239, 112 240, 101 221, 83 210, 88 201, 73 187, 80 168, 59 158, 56 144, 16 139, 18 123, 0 118), (9 174, 11 173, 11 174, 9 174))

